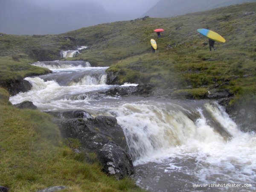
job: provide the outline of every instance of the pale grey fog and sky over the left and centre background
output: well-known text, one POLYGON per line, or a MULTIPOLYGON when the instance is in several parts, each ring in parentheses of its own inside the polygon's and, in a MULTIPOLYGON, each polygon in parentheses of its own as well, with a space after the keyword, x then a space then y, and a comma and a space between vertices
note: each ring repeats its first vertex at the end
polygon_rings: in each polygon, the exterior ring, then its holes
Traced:
POLYGON ((0 0, 0 32, 60 34, 141 17, 159 0, 0 0))

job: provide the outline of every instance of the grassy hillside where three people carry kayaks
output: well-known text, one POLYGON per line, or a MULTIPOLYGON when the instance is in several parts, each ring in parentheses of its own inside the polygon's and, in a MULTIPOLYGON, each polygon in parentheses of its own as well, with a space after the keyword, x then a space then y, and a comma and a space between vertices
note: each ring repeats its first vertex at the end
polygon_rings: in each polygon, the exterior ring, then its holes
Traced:
POLYGON ((67 33, 90 49, 76 57, 98 66, 111 66, 118 83, 155 83, 163 88, 229 89, 236 95, 256 87, 256 3, 170 18, 147 18, 108 23, 67 33), (155 28, 165 32, 157 38, 155 28), (207 38, 196 29, 221 34, 210 53, 207 38), (150 39, 158 50, 150 50, 150 39))

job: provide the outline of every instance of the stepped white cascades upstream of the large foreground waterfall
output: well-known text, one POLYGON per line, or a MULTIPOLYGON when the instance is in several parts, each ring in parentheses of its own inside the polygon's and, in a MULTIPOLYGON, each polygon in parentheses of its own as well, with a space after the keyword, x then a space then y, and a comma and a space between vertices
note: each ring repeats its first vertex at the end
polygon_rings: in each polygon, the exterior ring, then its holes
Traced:
POLYGON ((90 67, 90 63, 84 61, 43 61, 33 65, 47 67, 53 73, 25 78, 32 84, 32 89, 11 97, 12 103, 29 100, 38 109, 51 111, 79 109, 90 105, 88 101, 110 98, 104 94, 94 96, 98 90, 111 87, 106 84, 105 70, 108 67, 90 67))

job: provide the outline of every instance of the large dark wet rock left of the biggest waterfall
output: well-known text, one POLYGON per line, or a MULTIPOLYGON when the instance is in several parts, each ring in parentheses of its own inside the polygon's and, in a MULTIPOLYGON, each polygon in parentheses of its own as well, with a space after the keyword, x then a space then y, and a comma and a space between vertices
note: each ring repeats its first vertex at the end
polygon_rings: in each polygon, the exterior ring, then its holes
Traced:
POLYGON ((79 151, 96 153, 107 174, 121 179, 134 172, 125 135, 116 118, 93 118, 85 111, 67 111, 55 116, 72 118, 58 120, 62 135, 78 139, 81 143, 79 151))

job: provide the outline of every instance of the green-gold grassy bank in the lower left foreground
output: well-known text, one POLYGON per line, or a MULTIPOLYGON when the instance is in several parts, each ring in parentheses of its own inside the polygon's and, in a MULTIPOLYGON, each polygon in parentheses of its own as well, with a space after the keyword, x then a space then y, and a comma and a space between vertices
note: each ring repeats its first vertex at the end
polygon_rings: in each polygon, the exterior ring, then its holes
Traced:
POLYGON ((20 110, 0 88, 0 185, 11 192, 31 192, 49 186, 63 191, 142 191, 125 178, 117 181, 101 172, 95 154, 76 154, 78 140, 63 140, 52 117, 38 110, 20 110), (90 161, 87 161, 87 158, 90 161))

